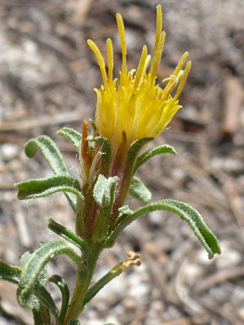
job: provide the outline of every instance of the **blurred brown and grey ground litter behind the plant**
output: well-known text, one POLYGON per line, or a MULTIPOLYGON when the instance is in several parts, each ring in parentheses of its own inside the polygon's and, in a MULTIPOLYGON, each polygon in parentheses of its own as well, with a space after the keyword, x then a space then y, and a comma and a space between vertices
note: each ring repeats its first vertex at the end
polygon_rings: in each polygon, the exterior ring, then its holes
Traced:
MULTIPOLYGON (((89 303, 82 324, 241 325, 244 323, 244 2, 243 0, 1 0, 0 1, 0 258, 20 265, 20 255, 55 236, 47 217, 74 230, 62 193, 27 202, 15 182, 52 175, 41 155, 29 160, 24 143, 46 134, 76 175, 75 147, 55 132, 81 132, 94 119, 102 78, 86 43, 106 57, 106 39, 121 69, 115 14, 124 19, 129 70, 143 45, 152 53, 156 5, 163 10, 166 42, 158 83, 187 50, 192 69, 170 128, 150 146, 168 143, 178 155, 156 156, 137 173, 153 200, 172 198, 195 207, 220 240, 222 255, 209 261, 190 228, 176 215, 154 212, 135 221, 102 253, 94 281, 133 250, 142 265, 108 284, 89 303)), ((128 199, 131 209, 140 206, 128 199)), ((75 271, 65 257, 49 274, 72 289, 75 271)), ((49 287, 60 304, 59 290, 49 287)), ((0 324, 33 324, 15 300, 16 287, 0 282, 0 324)))

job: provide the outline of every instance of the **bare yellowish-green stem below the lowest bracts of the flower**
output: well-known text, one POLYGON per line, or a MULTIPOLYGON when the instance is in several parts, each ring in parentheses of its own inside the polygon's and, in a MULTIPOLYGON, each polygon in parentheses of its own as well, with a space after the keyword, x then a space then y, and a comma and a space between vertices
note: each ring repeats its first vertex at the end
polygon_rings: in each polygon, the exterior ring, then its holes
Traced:
POLYGON ((94 269, 97 264, 98 257, 101 253, 101 249, 93 247, 88 252, 88 274, 84 274, 84 271, 76 270, 76 281, 74 292, 69 304, 69 308, 63 322, 63 325, 67 325, 71 318, 78 319, 84 309, 84 299, 88 292, 88 288, 93 277, 94 269))

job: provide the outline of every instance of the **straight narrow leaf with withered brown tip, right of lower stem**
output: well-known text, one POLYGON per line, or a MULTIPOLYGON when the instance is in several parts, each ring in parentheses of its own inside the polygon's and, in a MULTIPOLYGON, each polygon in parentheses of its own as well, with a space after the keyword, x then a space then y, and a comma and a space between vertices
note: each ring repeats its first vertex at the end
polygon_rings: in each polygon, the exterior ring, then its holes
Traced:
POLYGON ((140 254, 128 252, 129 256, 125 260, 116 264, 112 270, 105 274, 100 280, 98 280, 87 292, 84 299, 83 306, 87 305, 88 302, 111 280, 120 275, 125 271, 130 265, 141 265, 140 254), (132 254, 131 254, 132 253, 132 254))

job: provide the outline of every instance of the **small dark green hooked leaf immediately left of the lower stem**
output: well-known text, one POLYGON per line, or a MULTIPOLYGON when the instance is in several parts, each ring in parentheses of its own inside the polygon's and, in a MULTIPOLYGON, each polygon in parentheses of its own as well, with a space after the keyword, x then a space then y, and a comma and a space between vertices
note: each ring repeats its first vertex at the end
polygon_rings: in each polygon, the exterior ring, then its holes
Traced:
POLYGON ((48 281, 55 283, 61 291, 62 305, 61 305, 59 319, 60 319, 60 323, 62 324, 64 321, 64 318, 65 318, 65 315, 67 313, 68 306, 69 306, 70 291, 69 291, 68 285, 64 281, 64 279, 61 278, 57 274, 52 275, 51 278, 48 279, 48 281))

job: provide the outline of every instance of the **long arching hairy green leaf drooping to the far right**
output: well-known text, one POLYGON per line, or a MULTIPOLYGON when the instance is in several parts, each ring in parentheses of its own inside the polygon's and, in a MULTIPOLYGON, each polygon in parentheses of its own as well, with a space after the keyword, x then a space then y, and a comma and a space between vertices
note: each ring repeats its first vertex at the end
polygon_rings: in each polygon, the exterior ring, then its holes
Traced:
POLYGON ((213 257, 214 254, 220 254, 221 249, 216 236, 207 227, 201 214, 189 206, 188 204, 176 200, 165 199, 157 202, 153 202, 145 205, 144 207, 136 210, 135 212, 129 214, 122 214, 118 217, 114 230, 108 236, 105 242, 106 247, 111 247, 114 244, 115 239, 118 237, 119 233, 128 226, 132 221, 156 210, 164 210, 178 214, 183 220, 185 220, 191 227, 197 238, 200 240, 201 244, 207 251, 209 259, 213 257), (109 246, 110 244, 110 246, 109 246))

